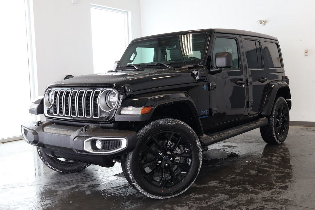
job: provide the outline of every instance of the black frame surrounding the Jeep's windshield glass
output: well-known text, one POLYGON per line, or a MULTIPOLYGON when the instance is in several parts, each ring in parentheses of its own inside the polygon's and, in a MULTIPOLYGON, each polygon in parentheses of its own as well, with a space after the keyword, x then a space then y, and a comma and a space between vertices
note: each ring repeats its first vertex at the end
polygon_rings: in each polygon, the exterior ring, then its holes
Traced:
POLYGON ((206 61, 206 56, 208 54, 208 48, 209 48, 209 43, 210 43, 210 34, 209 32, 207 31, 204 31, 204 32, 190 32, 190 33, 181 33, 181 34, 177 34, 177 33, 174 33, 173 35, 171 34, 167 34, 166 36, 165 35, 157 35, 157 36, 154 36, 154 37, 148 37, 148 38, 143 38, 143 39, 137 39, 135 41, 132 41, 128 47, 126 48, 125 52, 123 53, 121 59, 119 60, 119 62, 117 63, 117 67, 116 67, 116 70, 134 70, 135 68, 133 66, 131 66, 130 64, 129 65, 123 65, 121 64, 121 61, 122 61, 122 58, 124 56, 128 56, 128 54, 130 53, 129 49, 131 48, 132 44, 135 43, 135 42, 139 42, 139 41, 146 41, 146 40, 153 40, 153 39, 158 39, 158 38, 167 38, 167 37, 178 37, 178 36, 181 36, 181 35, 186 35, 186 34, 206 34, 206 42, 205 42, 205 48, 204 48, 204 53, 203 53, 203 56, 201 57, 200 59, 200 62, 198 63, 195 63, 195 64, 172 64, 172 63, 169 63, 168 61, 156 61, 156 62, 151 62, 151 63, 137 63, 135 65, 139 66, 141 69, 157 69, 157 68, 165 68, 164 65, 146 65, 146 64, 154 64, 154 63, 166 63, 166 64, 169 64, 171 65, 172 67, 192 67, 192 66, 204 66, 206 65, 205 64, 205 61, 206 61))

